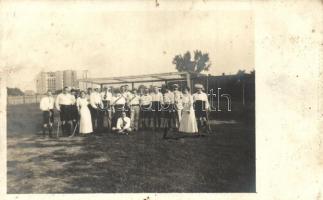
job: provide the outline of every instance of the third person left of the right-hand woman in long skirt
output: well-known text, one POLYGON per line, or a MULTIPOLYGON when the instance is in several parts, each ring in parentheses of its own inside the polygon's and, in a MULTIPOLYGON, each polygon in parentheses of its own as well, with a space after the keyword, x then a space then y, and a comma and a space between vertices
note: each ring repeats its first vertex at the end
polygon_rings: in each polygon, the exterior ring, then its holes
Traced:
POLYGON ((151 127, 153 130, 159 129, 161 125, 161 106, 163 104, 163 95, 159 92, 157 86, 153 87, 151 95, 151 127))

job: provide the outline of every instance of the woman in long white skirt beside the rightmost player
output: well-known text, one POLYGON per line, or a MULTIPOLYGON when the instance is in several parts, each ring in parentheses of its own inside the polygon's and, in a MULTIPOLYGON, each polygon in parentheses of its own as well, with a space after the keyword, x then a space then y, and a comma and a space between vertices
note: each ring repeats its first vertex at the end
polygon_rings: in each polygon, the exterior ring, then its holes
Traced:
POLYGON ((197 133, 197 123, 193 108, 193 97, 190 94, 190 89, 187 87, 183 91, 183 114, 180 121, 179 132, 197 133))

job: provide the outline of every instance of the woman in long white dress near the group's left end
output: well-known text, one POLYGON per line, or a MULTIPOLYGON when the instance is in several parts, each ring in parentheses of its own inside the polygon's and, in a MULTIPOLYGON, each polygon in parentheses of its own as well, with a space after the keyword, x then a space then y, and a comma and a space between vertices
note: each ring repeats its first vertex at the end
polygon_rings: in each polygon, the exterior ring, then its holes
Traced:
POLYGON ((77 98, 77 108, 80 113, 80 133, 89 134, 93 132, 91 113, 88 108, 88 99, 84 91, 81 92, 80 97, 77 98))

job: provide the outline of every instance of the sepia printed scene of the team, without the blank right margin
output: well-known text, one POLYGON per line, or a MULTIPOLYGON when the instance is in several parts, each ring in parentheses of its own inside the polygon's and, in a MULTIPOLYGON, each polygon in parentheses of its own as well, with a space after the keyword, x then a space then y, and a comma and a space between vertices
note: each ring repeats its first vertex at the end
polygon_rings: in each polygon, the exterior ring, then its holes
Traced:
POLYGON ((99 2, 5 4, 7 193, 255 193, 253 11, 99 2))

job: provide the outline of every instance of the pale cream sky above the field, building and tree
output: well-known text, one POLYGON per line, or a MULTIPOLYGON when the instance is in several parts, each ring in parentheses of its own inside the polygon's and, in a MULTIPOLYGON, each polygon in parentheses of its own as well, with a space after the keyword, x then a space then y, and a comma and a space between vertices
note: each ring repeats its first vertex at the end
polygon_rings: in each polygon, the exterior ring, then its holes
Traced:
POLYGON ((210 74, 255 68, 248 9, 35 2, 2 7, 0 64, 11 69, 9 87, 34 90, 42 70, 89 70, 90 77, 173 72, 173 57, 196 49, 209 53, 210 74))

